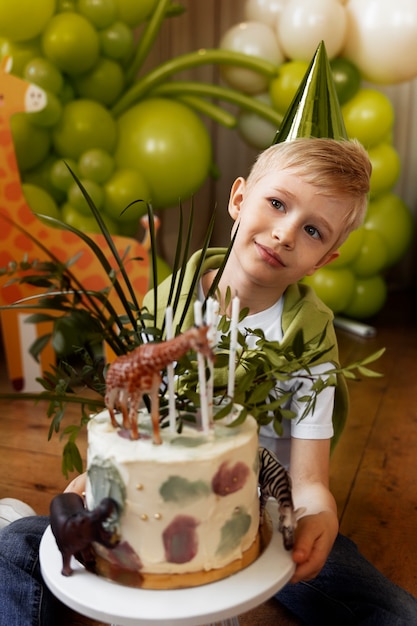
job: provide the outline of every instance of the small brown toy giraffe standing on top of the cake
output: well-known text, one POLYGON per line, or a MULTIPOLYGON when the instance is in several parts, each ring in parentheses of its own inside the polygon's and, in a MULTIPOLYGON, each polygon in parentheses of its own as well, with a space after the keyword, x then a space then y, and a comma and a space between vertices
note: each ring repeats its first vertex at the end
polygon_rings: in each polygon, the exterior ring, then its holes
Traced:
POLYGON ((161 444, 159 432, 159 388, 161 371, 188 350, 200 352, 210 360, 214 354, 207 338, 208 326, 193 326, 181 335, 162 342, 144 343, 129 354, 118 357, 106 375, 106 407, 114 428, 118 428, 115 408, 120 408, 123 428, 131 430, 131 439, 139 439, 138 409, 144 393, 151 397, 153 442, 161 444))

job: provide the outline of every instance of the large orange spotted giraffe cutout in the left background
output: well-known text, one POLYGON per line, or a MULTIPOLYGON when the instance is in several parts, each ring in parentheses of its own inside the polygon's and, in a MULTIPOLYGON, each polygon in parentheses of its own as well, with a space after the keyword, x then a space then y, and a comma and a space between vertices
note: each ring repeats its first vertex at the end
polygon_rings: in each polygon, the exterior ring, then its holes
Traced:
MULTIPOLYGON (((10 74, 11 65, 12 60, 9 57, 4 57, 0 62, 0 267, 6 267, 10 262, 20 262, 24 258, 28 261, 48 259, 30 237, 10 223, 10 220, 13 220, 61 261, 79 255, 79 259, 72 267, 77 279, 86 289, 103 289, 109 285, 110 280, 90 248, 73 233, 45 225, 32 213, 27 204, 16 160, 10 118, 17 112, 30 113, 41 110, 46 105, 46 94, 39 87, 10 74), (1 219, 2 216, 6 219, 1 219)), ((91 234, 90 237, 104 252, 108 251, 106 256, 116 268, 103 235, 91 234)), ((148 250, 136 239, 129 237, 114 236, 113 242, 120 257, 127 259, 126 271, 141 304, 148 289, 148 250), (128 250, 127 254, 125 254, 126 250, 128 250), (134 260, 138 258, 143 260, 134 260)), ((8 280, 7 277, 0 277, 0 306, 13 304, 37 293, 28 285, 16 283, 7 285, 8 280)), ((113 292, 110 300, 116 310, 121 313, 120 304, 113 292)), ((22 329, 25 325, 21 322, 21 311, 0 310, 8 377, 17 391, 27 390, 29 384, 24 375, 29 345, 22 338, 22 329)), ((26 326, 32 326, 32 324, 26 324, 26 326)), ((36 325, 36 335, 41 336, 44 333, 45 328, 42 328, 42 324, 36 325)), ((107 358, 111 358, 109 355, 107 350, 107 358)), ((41 376, 42 372, 54 362, 55 355, 52 348, 43 350, 39 372, 35 373, 33 379, 41 376)), ((32 366, 35 370, 37 369, 34 360, 32 366)))

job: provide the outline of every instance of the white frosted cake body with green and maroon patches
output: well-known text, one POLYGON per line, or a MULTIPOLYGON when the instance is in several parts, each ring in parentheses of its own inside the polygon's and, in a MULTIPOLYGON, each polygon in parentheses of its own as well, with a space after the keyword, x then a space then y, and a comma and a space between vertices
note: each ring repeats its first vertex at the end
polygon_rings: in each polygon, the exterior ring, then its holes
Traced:
POLYGON ((112 427, 107 411, 90 421, 88 508, 97 504, 93 494, 112 495, 101 481, 98 487, 90 482, 94 470, 100 474, 100 467, 111 467, 119 490, 120 478, 125 490, 122 538, 139 556, 143 572, 210 570, 240 558, 259 526, 255 420, 216 425, 208 435, 190 427, 181 434, 162 429, 159 446, 152 443, 150 421, 143 426, 141 416, 140 423, 141 438, 132 441, 112 427), (193 546, 192 557, 183 558, 184 544, 185 554, 193 546))

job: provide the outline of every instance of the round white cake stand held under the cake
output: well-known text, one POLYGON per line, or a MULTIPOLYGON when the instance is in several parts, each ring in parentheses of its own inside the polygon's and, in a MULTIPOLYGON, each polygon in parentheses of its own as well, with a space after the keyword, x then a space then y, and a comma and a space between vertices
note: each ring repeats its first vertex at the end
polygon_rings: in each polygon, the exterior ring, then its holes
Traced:
POLYGON ((268 502, 267 509, 273 524, 268 547, 244 570, 207 585, 166 591, 125 587, 86 571, 75 559, 72 576, 62 576, 62 557, 50 527, 40 545, 42 575, 64 604, 102 622, 119 626, 238 624, 236 615, 272 597, 295 569, 277 530, 276 503, 268 502))

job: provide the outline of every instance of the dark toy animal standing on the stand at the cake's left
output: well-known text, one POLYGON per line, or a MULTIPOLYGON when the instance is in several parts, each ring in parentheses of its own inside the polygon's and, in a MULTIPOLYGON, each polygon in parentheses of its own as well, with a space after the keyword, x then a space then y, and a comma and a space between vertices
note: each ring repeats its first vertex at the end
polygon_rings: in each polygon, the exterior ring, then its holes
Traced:
POLYGON ((81 496, 61 493, 51 502, 51 529, 62 554, 62 574, 70 576, 71 556, 88 566, 94 561, 91 544, 97 542, 107 548, 114 547, 119 538, 114 531, 104 527, 104 522, 118 514, 118 505, 112 498, 104 498, 92 511, 84 508, 81 496))

